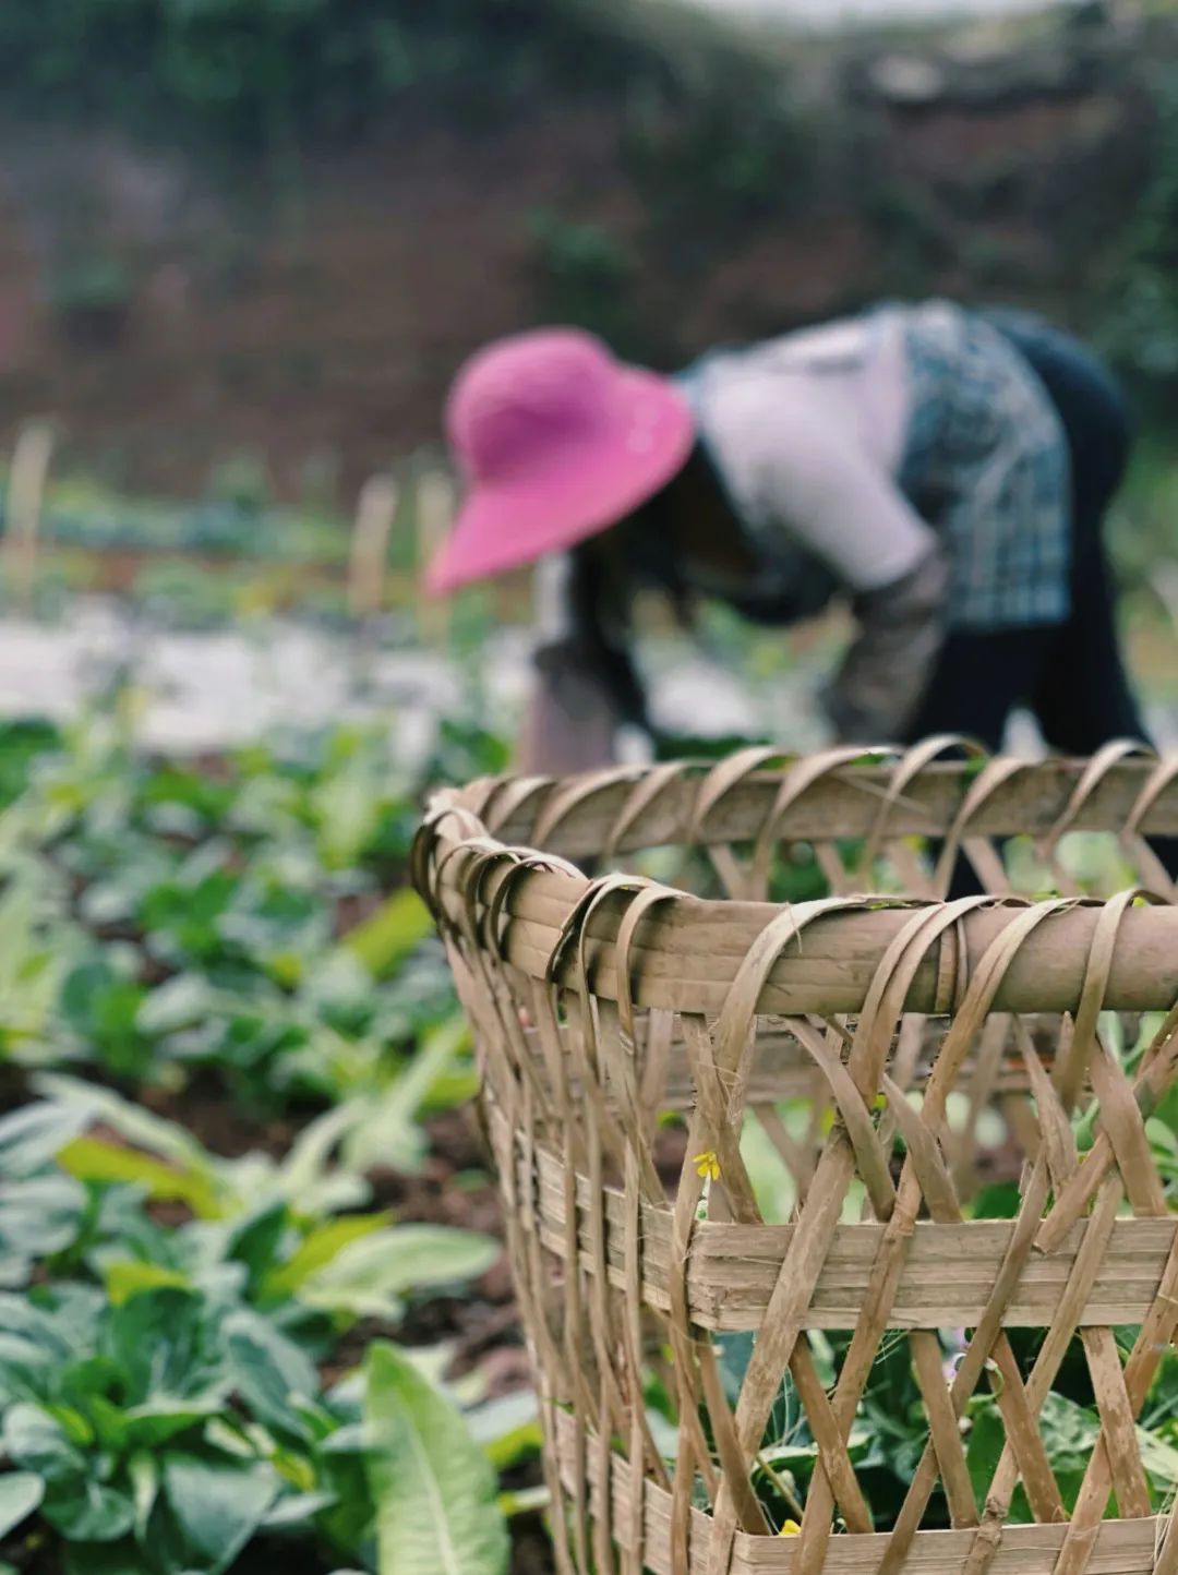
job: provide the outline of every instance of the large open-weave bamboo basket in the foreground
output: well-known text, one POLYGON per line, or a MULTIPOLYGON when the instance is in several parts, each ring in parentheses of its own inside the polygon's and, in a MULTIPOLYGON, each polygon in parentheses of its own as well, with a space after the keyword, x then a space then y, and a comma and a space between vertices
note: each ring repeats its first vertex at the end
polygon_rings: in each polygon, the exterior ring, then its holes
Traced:
POLYGON ((1135 1427, 1178 1331, 1147 1134, 1178 907, 1145 839, 1178 833, 1178 762, 961 754, 750 750, 430 806, 414 879, 474 1035, 562 1575, 1178 1572, 1135 1427), (770 901, 798 868, 822 888, 770 901), (962 868, 986 895, 946 896, 962 868), (1014 1205, 986 1217, 995 1142, 1014 1205), (918 1443, 880 1528, 855 1429, 898 1351, 918 1443), (1044 1406, 1077 1364, 1098 1430, 1065 1503, 1044 1406))

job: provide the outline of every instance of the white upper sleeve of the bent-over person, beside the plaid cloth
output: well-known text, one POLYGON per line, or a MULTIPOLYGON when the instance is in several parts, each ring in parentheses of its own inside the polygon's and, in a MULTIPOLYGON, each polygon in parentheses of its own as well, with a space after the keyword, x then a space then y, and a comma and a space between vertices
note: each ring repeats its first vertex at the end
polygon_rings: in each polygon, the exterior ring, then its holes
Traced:
POLYGON ((753 529, 783 531, 852 592, 902 580, 935 532, 832 413, 783 408, 781 384, 731 389, 717 411, 717 460, 753 529))

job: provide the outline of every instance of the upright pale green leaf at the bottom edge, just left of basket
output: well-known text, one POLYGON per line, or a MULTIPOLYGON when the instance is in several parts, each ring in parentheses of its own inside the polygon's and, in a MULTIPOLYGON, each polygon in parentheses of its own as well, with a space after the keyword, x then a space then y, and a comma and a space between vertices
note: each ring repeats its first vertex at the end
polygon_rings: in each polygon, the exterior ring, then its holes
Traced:
POLYGON ((381 1575, 502 1575, 495 1473, 458 1411, 384 1342, 369 1347, 365 1375, 381 1575))

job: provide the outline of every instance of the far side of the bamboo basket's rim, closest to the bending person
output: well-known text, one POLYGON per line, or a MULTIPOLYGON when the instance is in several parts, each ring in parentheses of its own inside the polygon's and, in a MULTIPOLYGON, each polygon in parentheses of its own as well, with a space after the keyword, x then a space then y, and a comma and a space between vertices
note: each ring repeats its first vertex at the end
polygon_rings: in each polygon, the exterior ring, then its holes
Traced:
POLYGON ((1178 835, 1178 754, 1128 740, 1091 759, 1041 761, 989 756, 961 739, 909 751, 753 748, 720 762, 483 776, 433 802, 447 795, 488 836, 573 860, 754 838, 770 821, 787 839, 1030 833, 1054 846, 1071 830, 1178 835))

